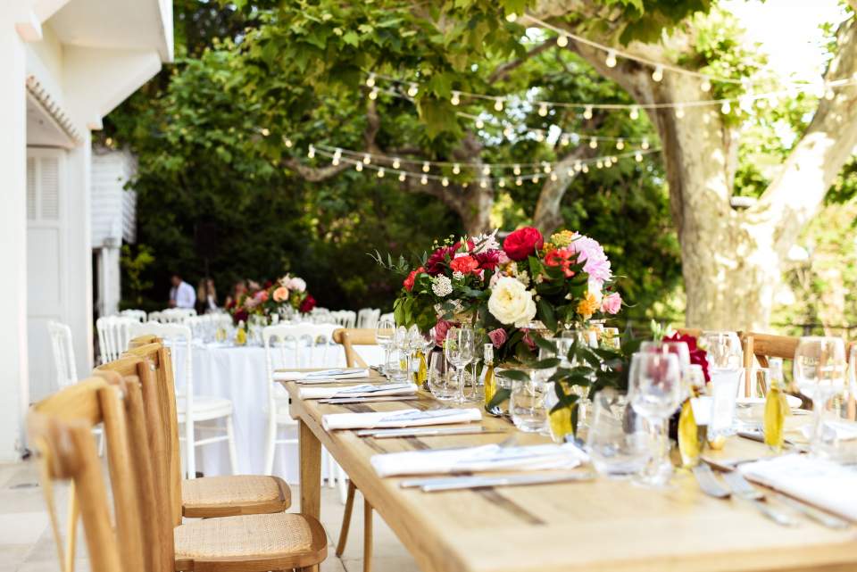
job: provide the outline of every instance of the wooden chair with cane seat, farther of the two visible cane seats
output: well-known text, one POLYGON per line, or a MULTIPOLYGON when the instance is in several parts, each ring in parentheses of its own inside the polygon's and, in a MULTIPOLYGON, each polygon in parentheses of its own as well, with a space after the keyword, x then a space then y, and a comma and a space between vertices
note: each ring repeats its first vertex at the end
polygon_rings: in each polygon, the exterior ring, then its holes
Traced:
MULTIPOLYGON (((157 340, 143 336, 131 345, 157 340)), ((158 343, 132 347, 118 361, 105 364, 99 370, 112 370, 128 375, 137 360, 145 360, 154 373, 154 391, 146 396, 146 405, 157 406, 164 419, 175 419, 175 404, 162 400, 164 388, 172 385, 170 352, 158 343)), ((174 390, 173 390, 174 391, 174 390)), ((165 424, 162 451, 163 472, 168 486, 168 499, 173 519, 231 517, 247 514, 283 512, 291 506, 291 490, 279 477, 261 475, 228 475, 223 477, 181 478, 178 452, 178 423, 165 424), (173 446, 174 445, 174 446, 173 446)))

